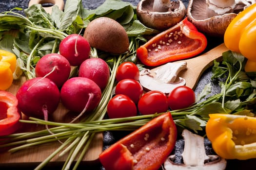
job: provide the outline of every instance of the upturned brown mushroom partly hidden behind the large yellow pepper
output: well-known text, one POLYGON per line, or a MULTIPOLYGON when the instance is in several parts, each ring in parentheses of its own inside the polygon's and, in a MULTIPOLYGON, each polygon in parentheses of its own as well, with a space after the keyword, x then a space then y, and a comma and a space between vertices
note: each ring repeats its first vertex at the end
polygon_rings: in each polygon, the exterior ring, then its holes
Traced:
POLYGON ((187 17, 203 34, 223 37, 230 22, 255 0, 190 0, 187 17))

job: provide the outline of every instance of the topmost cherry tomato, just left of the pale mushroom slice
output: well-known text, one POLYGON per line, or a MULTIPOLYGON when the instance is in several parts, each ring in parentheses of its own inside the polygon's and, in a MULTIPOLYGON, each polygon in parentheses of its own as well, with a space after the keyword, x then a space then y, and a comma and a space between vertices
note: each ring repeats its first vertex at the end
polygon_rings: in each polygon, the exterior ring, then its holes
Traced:
POLYGON ((136 64, 132 62, 123 62, 118 66, 116 79, 119 82, 123 79, 134 79, 138 81, 139 70, 136 64))

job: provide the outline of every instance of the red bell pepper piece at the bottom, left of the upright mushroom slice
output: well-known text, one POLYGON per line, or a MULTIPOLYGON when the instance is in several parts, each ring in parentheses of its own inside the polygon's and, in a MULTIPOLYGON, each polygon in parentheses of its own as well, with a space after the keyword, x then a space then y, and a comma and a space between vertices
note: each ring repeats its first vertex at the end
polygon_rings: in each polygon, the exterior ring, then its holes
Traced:
POLYGON ((177 128, 167 112, 99 155, 106 170, 158 170, 175 147, 177 128))

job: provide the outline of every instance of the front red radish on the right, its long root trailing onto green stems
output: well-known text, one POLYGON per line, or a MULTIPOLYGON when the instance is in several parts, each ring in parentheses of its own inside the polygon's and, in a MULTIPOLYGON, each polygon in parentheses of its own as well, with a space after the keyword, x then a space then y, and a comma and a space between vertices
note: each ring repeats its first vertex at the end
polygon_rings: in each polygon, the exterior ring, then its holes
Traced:
POLYGON ((80 113, 77 118, 83 113, 95 109, 100 99, 101 90, 99 86, 85 77, 68 79, 60 90, 61 102, 70 111, 80 113))

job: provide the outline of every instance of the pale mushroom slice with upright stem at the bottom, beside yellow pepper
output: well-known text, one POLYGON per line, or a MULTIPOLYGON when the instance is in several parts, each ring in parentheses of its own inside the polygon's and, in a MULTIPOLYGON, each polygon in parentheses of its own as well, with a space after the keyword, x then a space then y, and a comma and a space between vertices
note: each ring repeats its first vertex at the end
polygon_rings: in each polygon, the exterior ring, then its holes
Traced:
POLYGON ((185 140, 182 153, 184 164, 174 163, 175 155, 170 155, 164 162, 165 170, 225 170, 227 161, 218 155, 206 155, 204 138, 183 130, 185 140))

